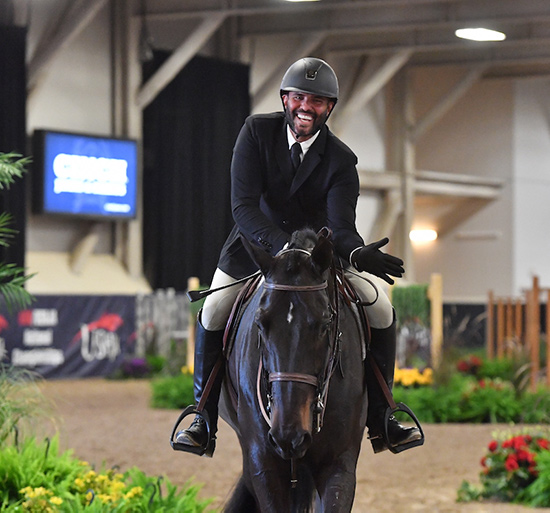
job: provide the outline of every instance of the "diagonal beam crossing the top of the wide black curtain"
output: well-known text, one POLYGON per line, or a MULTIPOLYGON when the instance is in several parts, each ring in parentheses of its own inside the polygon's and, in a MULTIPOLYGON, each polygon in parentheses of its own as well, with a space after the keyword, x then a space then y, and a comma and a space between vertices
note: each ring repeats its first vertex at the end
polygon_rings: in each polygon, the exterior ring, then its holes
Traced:
POLYGON ((170 83, 181 69, 210 39, 226 19, 226 14, 213 13, 205 17, 196 30, 180 45, 138 92, 136 102, 144 109, 170 83))

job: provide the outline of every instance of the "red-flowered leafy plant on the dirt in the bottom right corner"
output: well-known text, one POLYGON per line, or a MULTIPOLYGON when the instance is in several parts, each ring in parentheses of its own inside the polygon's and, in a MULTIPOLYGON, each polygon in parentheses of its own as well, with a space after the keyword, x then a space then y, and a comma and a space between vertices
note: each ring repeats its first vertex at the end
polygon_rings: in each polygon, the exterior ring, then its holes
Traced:
POLYGON ((545 431, 526 430, 500 439, 496 437, 481 458, 481 487, 463 482, 458 500, 493 499, 550 506, 550 467, 545 461, 550 462, 550 437, 545 431), (542 487, 541 483, 544 483, 542 487))

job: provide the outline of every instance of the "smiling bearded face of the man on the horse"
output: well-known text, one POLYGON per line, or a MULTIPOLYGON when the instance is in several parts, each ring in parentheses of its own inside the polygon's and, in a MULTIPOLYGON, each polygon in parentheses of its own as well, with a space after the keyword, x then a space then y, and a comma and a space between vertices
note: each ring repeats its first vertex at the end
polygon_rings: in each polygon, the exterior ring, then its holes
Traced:
POLYGON ((285 117, 297 141, 307 141, 325 123, 334 101, 326 96, 290 91, 283 94, 285 117))

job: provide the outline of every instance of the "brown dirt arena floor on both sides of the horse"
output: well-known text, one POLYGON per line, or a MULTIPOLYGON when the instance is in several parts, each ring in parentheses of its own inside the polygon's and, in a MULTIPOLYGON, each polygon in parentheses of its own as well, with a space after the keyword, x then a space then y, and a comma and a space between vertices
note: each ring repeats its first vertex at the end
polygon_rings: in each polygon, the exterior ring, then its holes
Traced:
MULTIPOLYGON (((221 506, 240 474, 237 438, 221 423, 214 458, 174 452, 169 440, 179 412, 149 408, 147 381, 47 381, 63 449, 97 467, 137 466, 174 484, 203 484, 200 496, 221 506)), ((527 513, 550 512, 500 503, 456 502, 463 480, 478 483, 479 461, 496 425, 425 425, 426 443, 394 455, 374 455, 365 441, 357 468, 354 513, 527 513)), ((45 429, 45 434, 53 430, 45 429)), ((243 512, 246 513, 246 512, 243 512)))

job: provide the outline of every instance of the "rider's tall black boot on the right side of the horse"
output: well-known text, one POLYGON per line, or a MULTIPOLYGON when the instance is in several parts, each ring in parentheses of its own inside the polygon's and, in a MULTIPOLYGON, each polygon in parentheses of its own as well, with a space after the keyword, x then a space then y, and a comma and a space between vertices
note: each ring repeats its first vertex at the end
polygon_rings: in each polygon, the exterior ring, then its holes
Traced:
MULTIPOLYGON (((390 391, 393 387, 393 375, 395 371, 395 353, 397 344, 397 329, 395 315, 392 324, 385 329, 371 328, 370 353, 384 377, 390 391)), ((367 387, 369 395, 369 407, 367 413, 367 427, 369 438, 375 453, 385 451, 405 444, 419 445, 423 438, 417 427, 405 427, 391 415, 388 419, 388 431, 386 436, 385 415, 388 409, 388 401, 382 392, 373 370, 367 363, 367 387)), ((395 452, 395 451, 394 451, 395 452)))

